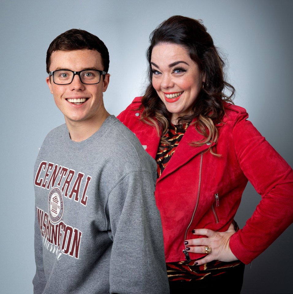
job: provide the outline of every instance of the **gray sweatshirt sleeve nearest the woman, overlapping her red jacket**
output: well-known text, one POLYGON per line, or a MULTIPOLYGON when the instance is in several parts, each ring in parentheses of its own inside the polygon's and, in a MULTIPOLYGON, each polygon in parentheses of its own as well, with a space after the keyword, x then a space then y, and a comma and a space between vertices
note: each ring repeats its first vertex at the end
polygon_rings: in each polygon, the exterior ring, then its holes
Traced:
POLYGON ((108 198, 110 293, 169 293, 161 218, 148 171, 131 171, 108 198))

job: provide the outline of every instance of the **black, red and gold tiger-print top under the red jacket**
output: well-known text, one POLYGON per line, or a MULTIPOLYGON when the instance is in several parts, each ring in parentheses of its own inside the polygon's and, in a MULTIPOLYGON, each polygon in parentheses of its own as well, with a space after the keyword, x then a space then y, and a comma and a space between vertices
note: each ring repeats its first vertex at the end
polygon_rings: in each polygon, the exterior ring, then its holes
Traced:
MULTIPOLYGON (((160 142, 156 156, 157 178, 162 175, 189 125, 190 122, 184 123, 180 126, 173 125, 172 123, 169 124, 169 130, 162 136, 163 140, 160 142)), ((234 222, 234 228, 237 231, 238 226, 236 222, 234 222)), ((226 273, 227 269, 238 266, 241 263, 239 260, 233 262, 221 262, 219 260, 214 260, 197 266, 194 265, 194 262, 196 262, 196 260, 191 260, 189 263, 186 261, 167 262, 166 267, 169 281, 202 280, 207 276, 211 277, 226 273)))

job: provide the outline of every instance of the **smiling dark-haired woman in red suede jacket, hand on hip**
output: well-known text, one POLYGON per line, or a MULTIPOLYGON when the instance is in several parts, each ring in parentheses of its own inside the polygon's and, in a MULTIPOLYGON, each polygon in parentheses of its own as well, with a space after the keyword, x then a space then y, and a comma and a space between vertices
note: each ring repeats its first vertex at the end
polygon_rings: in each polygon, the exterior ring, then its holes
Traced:
POLYGON ((293 221, 292 169, 233 105, 224 62, 199 21, 162 22, 147 58, 145 95, 118 118, 158 164, 170 292, 239 293, 244 264, 293 221), (248 180, 262 200, 239 229, 234 216, 248 180))

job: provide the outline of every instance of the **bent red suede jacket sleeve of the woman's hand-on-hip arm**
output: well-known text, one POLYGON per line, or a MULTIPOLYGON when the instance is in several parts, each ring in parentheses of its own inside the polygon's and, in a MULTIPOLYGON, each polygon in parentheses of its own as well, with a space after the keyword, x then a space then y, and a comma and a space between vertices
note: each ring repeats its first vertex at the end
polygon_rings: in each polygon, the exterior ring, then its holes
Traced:
POLYGON ((230 239, 233 254, 245 264, 263 252, 293 222, 293 172, 241 112, 233 126, 240 168, 261 195, 252 217, 230 239))

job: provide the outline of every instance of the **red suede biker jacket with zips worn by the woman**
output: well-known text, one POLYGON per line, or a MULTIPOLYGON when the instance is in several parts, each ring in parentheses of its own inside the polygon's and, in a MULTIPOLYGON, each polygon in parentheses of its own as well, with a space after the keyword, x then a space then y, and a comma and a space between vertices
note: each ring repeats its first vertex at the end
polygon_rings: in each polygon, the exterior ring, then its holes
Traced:
MULTIPOLYGON (((132 130, 146 151, 156 157, 161 134, 140 120, 141 97, 136 97, 118 119, 132 130)), ((248 264, 293 222, 293 171, 247 120, 245 109, 225 104, 226 115, 216 127, 216 152, 205 152, 193 125, 186 130, 157 181, 155 198, 161 213, 166 262, 185 259, 184 240, 192 230, 226 231, 233 221, 249 180, 262 199, 243 229, 230 239, 233 254, 248 264), (290 205, 288 205, 290 204, 290 205)), ((215 143, 213 143, 215 144, 215 143)), ((189 253, 191 259, 204 256, 189 253)))

